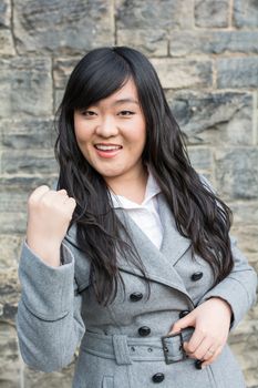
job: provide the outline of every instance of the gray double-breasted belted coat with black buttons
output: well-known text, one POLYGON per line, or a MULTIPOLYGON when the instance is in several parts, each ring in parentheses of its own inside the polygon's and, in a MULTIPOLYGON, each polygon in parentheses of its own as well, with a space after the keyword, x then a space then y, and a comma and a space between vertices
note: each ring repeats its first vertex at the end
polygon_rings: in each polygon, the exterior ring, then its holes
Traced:
POLYGON ((193 329, 165 339, 172 324, 211 296, 233 309, 233 330, 256 299, 257 276, 233 241, 235 267, 214 288, 209 265, 190 255, 190 241, 180 236, 173 215, 158 194, 164 238, 158 251, 122 211, 117 215, 133 236, 151 279, 151 297, 141 272, 123 257, 125 283, 107 307, 96 303, 89 261, 76 245, 75 228, 62 245, 64 265, 51 267, 23 245, 19 276, 22 285, 17 326, 20 351, 31 367, 53 371, 66 366, 80 345, 73 388, 244 388, 239 366, 228 345, 203 370, 184 358, 180 341, 193 329), (194 275, 194 276, 193 276, 194 275), (185 312, 185 313, 182 313, 185 312))

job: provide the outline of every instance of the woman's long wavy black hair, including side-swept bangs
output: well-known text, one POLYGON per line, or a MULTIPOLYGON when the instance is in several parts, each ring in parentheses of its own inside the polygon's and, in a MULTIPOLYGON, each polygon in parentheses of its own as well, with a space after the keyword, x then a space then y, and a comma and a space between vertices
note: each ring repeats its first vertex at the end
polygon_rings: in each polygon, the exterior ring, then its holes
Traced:
POLYGON ((130 79, 136 85, 146 122, 142 161, 156 178, 178 232, 190 238, 193 252, 209 263, 214 284, 229 274, 234 263, 228 234, 230 210, 202 182, 190 165, 183 133, 153 65, 131 48, 95 49, 82 58, 68 81, 58 111, 55 154, 60 163, 58 187, 65 188, 76 201, 72 223, 76 223, 79 246, 91 262, 96 298, 104 305, 113 300, 117 282, 122 280, 117 253, 133 261, 144 276, 146 273, 130 236, 127 242, 121 238, 121 231, 126 231, 112 208, 104 178, 87 163, 78 146, 73 116, 75 110, 110 96, 130 79))

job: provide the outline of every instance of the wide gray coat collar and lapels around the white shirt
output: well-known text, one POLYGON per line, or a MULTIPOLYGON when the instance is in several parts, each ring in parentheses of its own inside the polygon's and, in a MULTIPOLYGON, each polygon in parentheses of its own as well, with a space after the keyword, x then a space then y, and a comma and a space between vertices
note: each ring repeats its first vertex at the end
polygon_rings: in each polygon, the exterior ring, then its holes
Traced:
MULTIPOLYGON (((157 195, 157 201, 161 221, 164 227, 161 249, 158 249, 151 242, 151 239, 126 214, 125 211, 122 208, 116 208, 115 213, 130 232, 133 244, 144 265, 147 278, 176 288, 189 297, 182 277, 175 269, 175 264, 190 247, 190 239, 182 236, 178 233, 174 216, 162 193, 157 195)), ((125 235, 123 233, 121 237, 125 239, 125 235)), ((65 238, 70 242, 70 244, 78 248, 76 227, 74 225, 69 229, 65 238)), ((81 263, 81 265, 83 265, 83 263, 81 263)), ((117 255, 117 266, 124 272, 143 277, 141 270, 120 254, 117 255)))

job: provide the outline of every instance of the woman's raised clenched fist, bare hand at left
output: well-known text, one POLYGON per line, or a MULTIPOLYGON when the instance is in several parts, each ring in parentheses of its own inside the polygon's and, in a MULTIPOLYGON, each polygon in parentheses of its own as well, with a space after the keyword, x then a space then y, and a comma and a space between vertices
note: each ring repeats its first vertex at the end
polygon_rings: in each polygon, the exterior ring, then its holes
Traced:
POLYGON ((65 190, 43 185, 28 201, 27 243, 48 265, 60 265, 60 246, 68 232, 76 202, 65 190))

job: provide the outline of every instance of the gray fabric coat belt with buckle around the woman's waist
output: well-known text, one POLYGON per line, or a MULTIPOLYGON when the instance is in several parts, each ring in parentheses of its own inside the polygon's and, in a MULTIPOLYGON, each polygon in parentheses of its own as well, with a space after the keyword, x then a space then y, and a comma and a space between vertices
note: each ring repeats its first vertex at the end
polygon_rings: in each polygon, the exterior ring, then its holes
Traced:
POLYGON ((173 336, 138 338, 126 335, 104 335, 86 330, 81 349, 101 358, 116 360, 117 365, 133 361, 162 361, 166 364, 186 358, 183 341, 188 341, 194 329, 187 328, 173 336))

